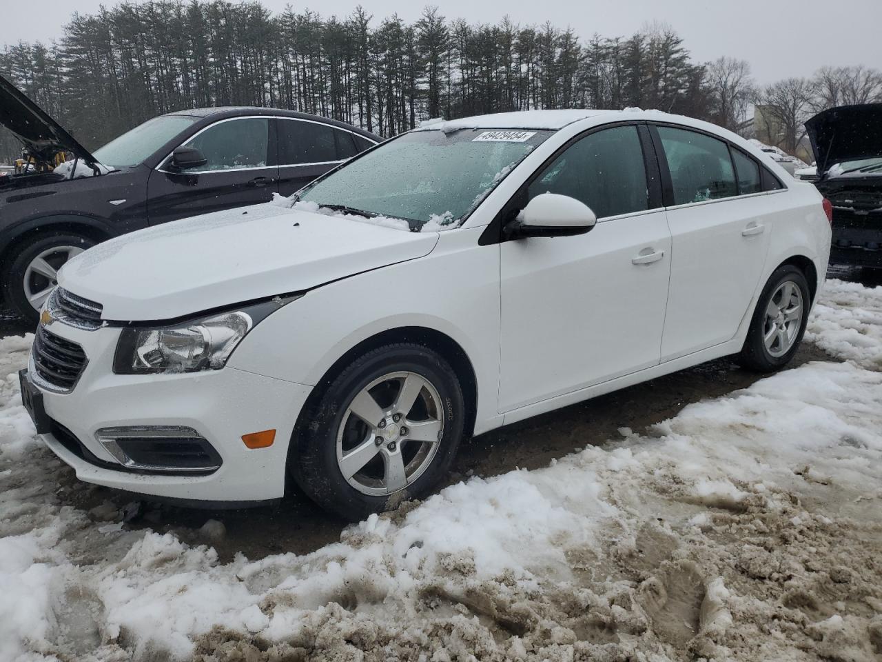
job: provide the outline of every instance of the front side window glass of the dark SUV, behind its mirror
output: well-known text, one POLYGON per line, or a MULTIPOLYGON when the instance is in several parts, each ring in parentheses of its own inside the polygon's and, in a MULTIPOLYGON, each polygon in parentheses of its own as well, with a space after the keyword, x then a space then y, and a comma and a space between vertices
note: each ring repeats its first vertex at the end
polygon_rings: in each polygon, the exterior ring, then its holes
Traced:
POLYGON ((267 117, 243 117, 212 124, 184 143, 186 147, 196 147, 208 160, 204 166, 187 172, 265 168, 269 125, 267 117))

